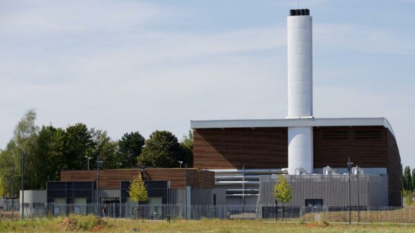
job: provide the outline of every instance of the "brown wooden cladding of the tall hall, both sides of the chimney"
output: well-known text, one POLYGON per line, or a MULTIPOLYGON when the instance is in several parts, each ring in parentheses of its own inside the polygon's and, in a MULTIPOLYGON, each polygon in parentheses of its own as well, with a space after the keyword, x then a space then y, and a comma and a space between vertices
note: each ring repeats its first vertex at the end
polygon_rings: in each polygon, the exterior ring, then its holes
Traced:
MULTIPOLYGON (((194 130, 194 167, 201 169, 288 167, 285 127, 194 130)), ((314 127, 313 167, 385 167, 389 205, 401 205, 400 155, 393 134, 382 126, 314 127)))

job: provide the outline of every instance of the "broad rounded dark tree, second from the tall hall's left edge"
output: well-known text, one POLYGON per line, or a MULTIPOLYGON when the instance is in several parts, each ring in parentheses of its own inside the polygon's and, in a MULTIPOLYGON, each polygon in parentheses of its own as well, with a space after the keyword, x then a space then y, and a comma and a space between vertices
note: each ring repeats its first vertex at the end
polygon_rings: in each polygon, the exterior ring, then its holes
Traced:
POLYGON ((169 131, 155 131, 146 140, 138 165, 149 167, 178 167, 181 148, 178 140, 169 131))

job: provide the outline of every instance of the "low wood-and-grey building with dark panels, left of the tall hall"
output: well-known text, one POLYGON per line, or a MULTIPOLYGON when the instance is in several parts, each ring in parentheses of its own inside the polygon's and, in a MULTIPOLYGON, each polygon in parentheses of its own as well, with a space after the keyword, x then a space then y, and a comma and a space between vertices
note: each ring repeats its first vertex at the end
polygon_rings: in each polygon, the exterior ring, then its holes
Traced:
MULTIPOLYGON (((95 203, 113 207, 114 216, 133 216, 136 205, 129 198, 131 180, 142 175, 151 214, 166 216, 165 205, 225 205, 225 190, 214 188, 212 171, 193 168, 104 169, 99 171, 61 171, 60 181, 50 181, 46 190, 25 190, 26 216, 97 213, 95 203), (99 183, 99 186, 98 186, 99 183), (49 203, 49 205, 46 205, 49 203), (50 205, 53 204, 53 205, 50 205), (72 207, 72 209, 71 209, 72 207)), ((184 216, 184 211, 183 211, 184 216)))

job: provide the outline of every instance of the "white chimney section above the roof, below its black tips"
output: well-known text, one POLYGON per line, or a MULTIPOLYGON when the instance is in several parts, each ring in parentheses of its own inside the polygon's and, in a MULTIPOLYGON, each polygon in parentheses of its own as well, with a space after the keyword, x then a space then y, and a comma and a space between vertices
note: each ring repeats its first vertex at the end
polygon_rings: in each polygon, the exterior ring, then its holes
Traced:
POLYGON ((288 16, 288 118, 313 115, 313 46, 310 15, 288 16))

